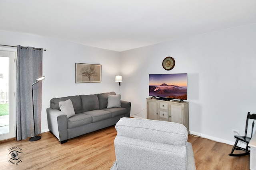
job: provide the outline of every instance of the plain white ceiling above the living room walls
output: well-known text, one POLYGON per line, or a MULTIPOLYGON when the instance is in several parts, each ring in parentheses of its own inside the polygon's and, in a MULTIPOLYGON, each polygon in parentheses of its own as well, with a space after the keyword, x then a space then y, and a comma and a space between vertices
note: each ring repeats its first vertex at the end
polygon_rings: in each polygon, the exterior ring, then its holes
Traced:
POLYGON ((256 23, 256 0, 0 0, 0 29, 125 51, 256 23))

